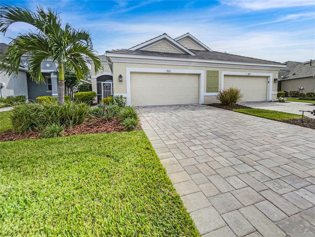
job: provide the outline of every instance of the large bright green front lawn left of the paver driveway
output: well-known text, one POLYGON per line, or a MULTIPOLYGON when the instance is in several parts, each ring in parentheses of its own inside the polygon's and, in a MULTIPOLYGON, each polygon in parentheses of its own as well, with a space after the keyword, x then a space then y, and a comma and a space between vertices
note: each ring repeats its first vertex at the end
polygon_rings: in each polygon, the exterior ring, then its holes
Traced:
POLYGON ((0 236, 199 236, 143 131, 0 145, 0 236))

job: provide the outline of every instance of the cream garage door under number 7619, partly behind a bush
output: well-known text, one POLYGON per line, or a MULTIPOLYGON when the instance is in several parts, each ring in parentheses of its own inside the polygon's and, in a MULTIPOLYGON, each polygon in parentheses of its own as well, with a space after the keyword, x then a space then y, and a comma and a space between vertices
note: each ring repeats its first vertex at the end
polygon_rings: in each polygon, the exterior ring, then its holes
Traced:
POLYGON ((236 87, 241 90, 244 97, 242 101, 266 101, 267 77, 262 76, 224 76, 224 89, 236 87))

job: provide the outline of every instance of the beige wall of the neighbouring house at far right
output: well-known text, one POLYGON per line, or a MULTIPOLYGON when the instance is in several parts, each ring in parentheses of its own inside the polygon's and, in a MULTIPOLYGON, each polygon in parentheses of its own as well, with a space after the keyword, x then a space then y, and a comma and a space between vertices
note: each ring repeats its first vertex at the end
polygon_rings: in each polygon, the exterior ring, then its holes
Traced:
POLYGON ((304 87, 303 93, 315 92, 315 78, 305 77, 281 81, 281 91, 298 91, 301 86, 304 87))

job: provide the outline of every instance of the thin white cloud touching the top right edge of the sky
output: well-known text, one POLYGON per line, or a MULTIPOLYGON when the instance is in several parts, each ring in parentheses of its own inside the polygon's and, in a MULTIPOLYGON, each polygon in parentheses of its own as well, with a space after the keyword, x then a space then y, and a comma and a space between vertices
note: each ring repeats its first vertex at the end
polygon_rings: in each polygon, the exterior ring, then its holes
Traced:
POLYGON ((222 4, 248 8, 252 10, 264 10, 269 8, 289 8, 315 5, 315 1, 311 0, 244 0, 244 1, 221 1, 222 4))

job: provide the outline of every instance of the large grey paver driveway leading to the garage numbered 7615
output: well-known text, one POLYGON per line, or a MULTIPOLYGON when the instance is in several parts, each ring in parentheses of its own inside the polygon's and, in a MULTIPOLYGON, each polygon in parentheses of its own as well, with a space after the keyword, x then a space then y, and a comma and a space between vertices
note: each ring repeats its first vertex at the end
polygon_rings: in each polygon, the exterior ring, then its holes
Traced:
POLYGON ((203 236, 315 235, 315 130, 219 108, 139 108, 203 236))

